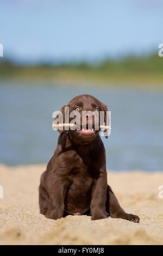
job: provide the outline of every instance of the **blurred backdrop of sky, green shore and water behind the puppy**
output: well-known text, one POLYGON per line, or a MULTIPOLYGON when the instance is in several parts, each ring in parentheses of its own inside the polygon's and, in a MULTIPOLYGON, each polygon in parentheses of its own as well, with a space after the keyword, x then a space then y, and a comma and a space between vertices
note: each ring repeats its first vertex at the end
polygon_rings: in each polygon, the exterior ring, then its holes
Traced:
POLYGON ((161 0, 1 2, 0 162, 47 163, 52 113, 87 93, 106 103, 107 168, 162 170, 161 0))

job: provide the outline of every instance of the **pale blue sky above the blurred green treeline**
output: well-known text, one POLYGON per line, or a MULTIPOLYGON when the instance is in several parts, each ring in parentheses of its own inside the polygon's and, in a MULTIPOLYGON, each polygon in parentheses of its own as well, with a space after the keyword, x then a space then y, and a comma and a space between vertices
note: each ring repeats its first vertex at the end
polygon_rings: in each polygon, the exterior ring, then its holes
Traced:
POLYGON ((158 51, 163 0, 5 0, 0 44, 16 62, 118 58, 158 51))

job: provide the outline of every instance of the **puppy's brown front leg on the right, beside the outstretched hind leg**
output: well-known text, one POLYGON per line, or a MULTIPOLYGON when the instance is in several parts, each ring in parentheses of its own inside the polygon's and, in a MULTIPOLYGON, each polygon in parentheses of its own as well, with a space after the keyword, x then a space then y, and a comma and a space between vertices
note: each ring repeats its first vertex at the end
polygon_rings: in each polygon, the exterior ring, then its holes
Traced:
POLYGON ((106 172, 102 171, 98 179, 95 181, 92 189, 91 200, 91 220, 100 220, 107 218, 106 212, 106 190, 107 190, 107 176, 106 172))

